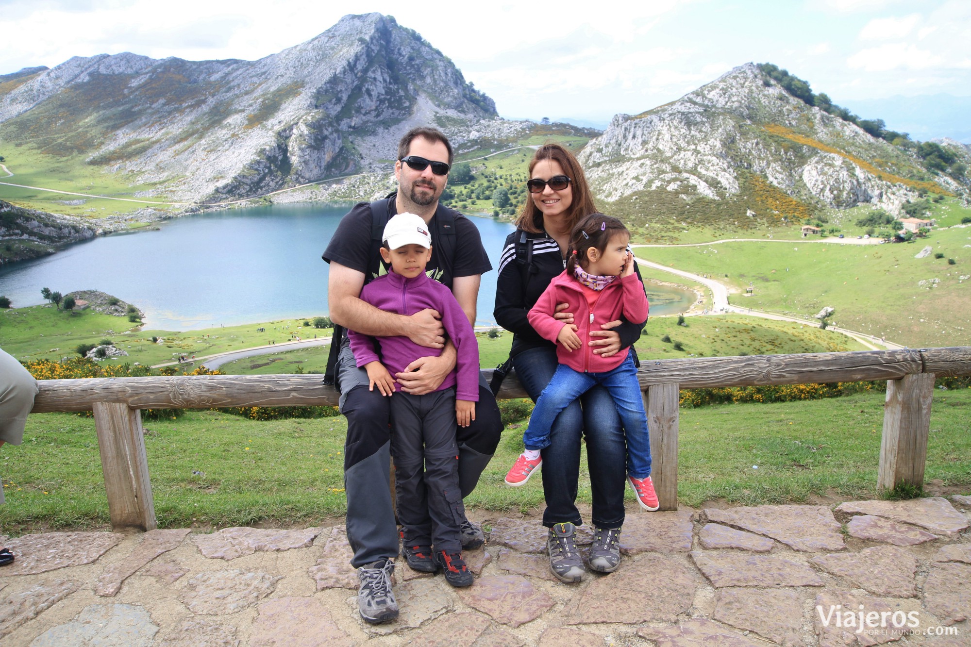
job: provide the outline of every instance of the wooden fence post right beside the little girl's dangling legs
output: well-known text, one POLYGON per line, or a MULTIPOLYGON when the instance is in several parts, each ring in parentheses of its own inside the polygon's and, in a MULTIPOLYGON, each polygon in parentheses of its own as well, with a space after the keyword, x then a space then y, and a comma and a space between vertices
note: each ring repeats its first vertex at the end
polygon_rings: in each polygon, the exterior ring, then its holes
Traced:
POLYGON ((678 509, 678 402, 676 384, 658 384, 644 393, 651 431, 651 478, 661 510, 678 509))

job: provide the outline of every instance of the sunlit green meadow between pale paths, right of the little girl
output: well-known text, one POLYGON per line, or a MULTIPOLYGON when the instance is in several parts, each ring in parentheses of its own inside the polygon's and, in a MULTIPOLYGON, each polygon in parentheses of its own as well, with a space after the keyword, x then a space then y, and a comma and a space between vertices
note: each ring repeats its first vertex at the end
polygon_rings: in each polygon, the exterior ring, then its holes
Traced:
POLYGON ((833 321, 851 330, 911 347, 957 346, 971 343, 971 283, 960 278, 971 275, 969 244, 971 227, 954 227, 892 245, 724 243, 637 255, 713 275, 732 289, 735 305, 803 318, 831 306, 833 321), (945 257, 914 257, 928 245, 945 257), (919 283, 935 278, 933 289, 919 283), (753 296, 741 296, 750 284, 753 296))

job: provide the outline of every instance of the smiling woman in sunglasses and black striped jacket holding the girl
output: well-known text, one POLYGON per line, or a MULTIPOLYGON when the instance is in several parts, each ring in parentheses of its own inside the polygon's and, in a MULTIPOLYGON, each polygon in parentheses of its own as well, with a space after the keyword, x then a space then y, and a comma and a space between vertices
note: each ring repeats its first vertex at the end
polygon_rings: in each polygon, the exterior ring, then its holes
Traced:
MULTIPOLYGON (((533 329, 526 313, 563 271, 573 226, 598 209, 576 157, 558 144, 547 144, 536 151, 529 162, 526 186, 529 196, 499 261, 493 314, 497 323, 514 333, 513 367, 519 383, 535 402, 550 383, 557 359, 552 342, 533 329)), ((573 323, 574 313, 558 310, 557 319, 573 323)), ((644 323, 621 320, 600 327, 590 332, 585 342, 594 353, 611 357, 634 343, 644 323)), ((602 387, 586 392, 556 417, 551 444, 541 455, 539 469, 547 504, 543 525, 550 528, 550 566, 564 582, 579 582, 584 573, 584 559, 577 551, 574 533, 583 524, 576 498, 580 444, 585 437, 593 498, 590 523, 594 528, 587 563, 592 570, 613 572, 620 562, 617 537, 624 519, 626 446, 614 400, 602 387)))

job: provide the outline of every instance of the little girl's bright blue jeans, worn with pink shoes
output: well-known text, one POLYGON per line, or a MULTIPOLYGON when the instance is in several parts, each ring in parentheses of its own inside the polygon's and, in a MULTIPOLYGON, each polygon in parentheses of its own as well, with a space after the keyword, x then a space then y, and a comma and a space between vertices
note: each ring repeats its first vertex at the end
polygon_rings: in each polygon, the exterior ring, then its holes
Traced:
POLYGON ((522 434, 528 450, 542 450, 550 445, 552 421, 578 397, 600 385, 610 393, 627 441, 627 474, 643 479, 651 476, 651 437, 648 434, 648 415, 637 382, 634 359, 627 354, 620 365, 603 373, 580 373, 566 364, 559 364, 552 380, 540 394, 529 418, 529 426, 522 434))

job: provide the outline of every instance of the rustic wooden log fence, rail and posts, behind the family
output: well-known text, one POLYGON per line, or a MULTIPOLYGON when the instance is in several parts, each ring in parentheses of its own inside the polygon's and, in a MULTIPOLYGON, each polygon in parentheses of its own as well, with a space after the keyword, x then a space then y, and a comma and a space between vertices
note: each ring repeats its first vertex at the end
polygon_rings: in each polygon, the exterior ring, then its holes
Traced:
MULTIPOLYGON (((484 371, 486 379, 492 371, 484 371)), ((662 510, 678 508, 681 389, 887 380, 879 489, 923 483, 935 377, 971 375, 971 347, 739 358, 642 359, 638 380, 651 430, 662 510)), ((199 375, 43 380, 32 413, 93 411, 112 525, 155 528, 139 409, 337 404, 319 375, 199 375)), ((526 397, 515 373, 499 399, 526 397)))

